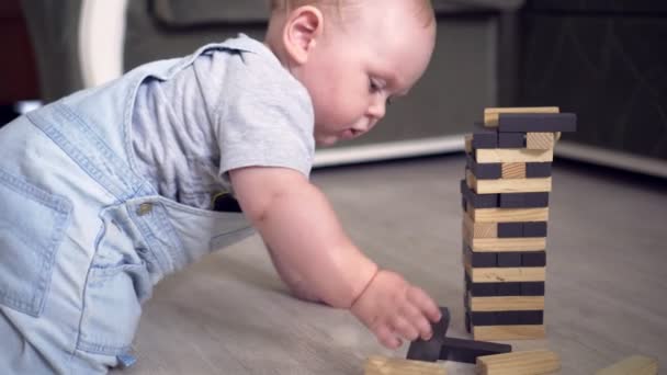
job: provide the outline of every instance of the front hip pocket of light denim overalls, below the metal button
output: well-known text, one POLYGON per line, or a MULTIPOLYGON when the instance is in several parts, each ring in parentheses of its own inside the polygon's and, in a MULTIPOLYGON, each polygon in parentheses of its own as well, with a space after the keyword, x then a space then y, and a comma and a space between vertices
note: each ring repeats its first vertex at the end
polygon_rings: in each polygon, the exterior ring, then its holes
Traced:
POLYGON ((88 273, 78 348, 91 353, 118 355, 129 350, 142 303, 152 289, 126 219, 116 215, 123 209, 102 214, 104 225, 88 273))

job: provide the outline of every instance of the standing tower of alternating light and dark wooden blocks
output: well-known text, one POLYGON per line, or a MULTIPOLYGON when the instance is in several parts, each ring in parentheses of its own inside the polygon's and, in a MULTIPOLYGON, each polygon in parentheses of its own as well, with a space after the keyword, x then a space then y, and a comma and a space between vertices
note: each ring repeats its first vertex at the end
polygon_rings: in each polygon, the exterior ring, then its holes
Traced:
POLYGON ((465 318, 475 340, 544 338, 552 161, 576 115, 557 107, 486 109, 466 136, 465 318))

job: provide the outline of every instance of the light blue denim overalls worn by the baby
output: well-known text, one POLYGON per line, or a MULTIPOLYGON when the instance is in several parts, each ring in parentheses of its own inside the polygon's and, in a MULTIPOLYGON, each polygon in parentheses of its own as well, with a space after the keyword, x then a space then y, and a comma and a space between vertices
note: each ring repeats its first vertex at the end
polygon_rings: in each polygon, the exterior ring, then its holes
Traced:
POLYGON ((145 65, 0 129, 0 374, 131 364, 152 286, 252 234, 241 213, 181 205, 135 172, 138 86, 218 47, 145 65))

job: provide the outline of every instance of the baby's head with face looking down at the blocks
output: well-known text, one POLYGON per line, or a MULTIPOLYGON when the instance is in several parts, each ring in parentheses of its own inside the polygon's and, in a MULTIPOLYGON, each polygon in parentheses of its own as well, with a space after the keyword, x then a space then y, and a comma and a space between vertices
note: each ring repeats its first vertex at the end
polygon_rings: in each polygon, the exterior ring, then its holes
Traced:
POLYGON ((271 0, 271 5, 267 44, 308 90, 319 145, 369 132, 431 58, 430 0, 271 0))

